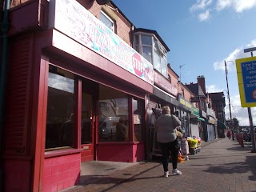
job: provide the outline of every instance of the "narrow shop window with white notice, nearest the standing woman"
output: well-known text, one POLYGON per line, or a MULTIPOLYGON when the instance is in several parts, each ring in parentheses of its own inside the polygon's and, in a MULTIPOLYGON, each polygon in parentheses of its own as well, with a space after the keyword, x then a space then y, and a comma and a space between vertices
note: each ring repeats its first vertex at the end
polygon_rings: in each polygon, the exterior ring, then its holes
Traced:
POLYGON ((141 99, 133 98, 134 110, 134 141, 143 141, 143 114, 144 104, 141 99))

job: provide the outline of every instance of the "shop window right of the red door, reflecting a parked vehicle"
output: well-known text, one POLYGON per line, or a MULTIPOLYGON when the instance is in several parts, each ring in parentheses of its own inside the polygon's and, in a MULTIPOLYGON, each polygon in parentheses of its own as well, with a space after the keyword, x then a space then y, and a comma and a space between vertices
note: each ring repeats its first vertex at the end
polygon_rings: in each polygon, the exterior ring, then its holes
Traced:
POLYGON ((129 141, 128 95, 107 86, 99 86, 99 142, 129 141))

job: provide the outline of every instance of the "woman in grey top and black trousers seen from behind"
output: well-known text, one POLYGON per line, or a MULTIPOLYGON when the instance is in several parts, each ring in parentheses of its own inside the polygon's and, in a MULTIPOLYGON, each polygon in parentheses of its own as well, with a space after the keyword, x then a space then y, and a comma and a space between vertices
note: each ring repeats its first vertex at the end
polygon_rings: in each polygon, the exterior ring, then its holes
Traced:
POLYGON ((181 126, 181 121, 173 114, 170 114, 170 107, 162 107, 162 115, 157 119, 155 128, 157 131, 157 140, 162 153, 162 166, 164 170, 164 177, 169 176, 169 156, 171 153, 171 162, 173 166, 172 174, 180 175, 182 172, 177 169, 178 166, 178 152, 180 150, 180 143, 178 142, 176 127, 181 126))

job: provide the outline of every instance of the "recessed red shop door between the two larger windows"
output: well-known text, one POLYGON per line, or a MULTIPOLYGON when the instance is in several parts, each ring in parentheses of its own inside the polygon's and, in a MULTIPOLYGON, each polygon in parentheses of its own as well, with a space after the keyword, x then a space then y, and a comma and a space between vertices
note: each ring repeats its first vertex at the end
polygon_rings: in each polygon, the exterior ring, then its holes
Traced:
POLYGON ((95 160, 98 83, 83 79, 81 98, 81 162, 88 162, 95 160))

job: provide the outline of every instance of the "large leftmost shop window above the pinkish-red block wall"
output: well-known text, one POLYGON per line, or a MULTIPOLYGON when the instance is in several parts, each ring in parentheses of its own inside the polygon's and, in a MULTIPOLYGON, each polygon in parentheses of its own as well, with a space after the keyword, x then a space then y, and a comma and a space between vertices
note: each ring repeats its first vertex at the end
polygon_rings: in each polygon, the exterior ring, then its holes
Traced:
POLYGON ((46 117, 46 151, 73 146, 74 76, 50 66, 46 117))

